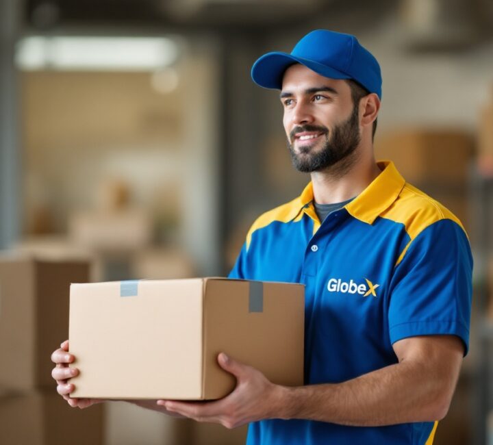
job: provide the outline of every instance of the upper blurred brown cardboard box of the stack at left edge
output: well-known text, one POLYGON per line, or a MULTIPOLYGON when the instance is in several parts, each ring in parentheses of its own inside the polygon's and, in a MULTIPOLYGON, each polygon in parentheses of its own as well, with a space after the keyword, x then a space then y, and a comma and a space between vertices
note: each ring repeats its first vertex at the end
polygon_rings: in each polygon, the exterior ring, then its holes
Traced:
POLYGON ((87 262, 0 257, 0 388, 53 387, 50 356, 67 338, 70 284, 87 262))

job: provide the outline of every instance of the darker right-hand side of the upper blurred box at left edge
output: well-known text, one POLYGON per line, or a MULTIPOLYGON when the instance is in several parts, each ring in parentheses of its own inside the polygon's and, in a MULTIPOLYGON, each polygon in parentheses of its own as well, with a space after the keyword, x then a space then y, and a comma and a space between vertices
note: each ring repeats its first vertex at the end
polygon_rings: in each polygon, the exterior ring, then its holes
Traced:
POLYGON ((68 338, 71 283, 89 281, 87 262, 36 262, 36 385, 53 387, 51 353, 68 338))

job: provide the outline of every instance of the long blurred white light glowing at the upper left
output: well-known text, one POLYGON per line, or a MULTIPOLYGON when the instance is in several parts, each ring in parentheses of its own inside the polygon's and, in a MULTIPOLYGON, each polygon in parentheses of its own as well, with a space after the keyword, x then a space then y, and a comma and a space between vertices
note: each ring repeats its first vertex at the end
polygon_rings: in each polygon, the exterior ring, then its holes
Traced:
POLYGON ((27 37, 16 51, 28 71, 154 71, 177 57, 177 44, 164 37, 27 37))

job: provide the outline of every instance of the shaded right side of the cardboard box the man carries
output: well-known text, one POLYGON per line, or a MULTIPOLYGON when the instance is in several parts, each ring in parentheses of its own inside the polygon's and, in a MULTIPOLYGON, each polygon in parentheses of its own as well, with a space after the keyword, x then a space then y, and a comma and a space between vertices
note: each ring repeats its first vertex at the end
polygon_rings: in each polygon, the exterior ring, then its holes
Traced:
POLYGON ((231 392, 235 381, 217 364, 221 351, 281 385, 303 385, 305 303, 302 285, 263 283, 252 301, 249 282, 208 281, 205 294, 205 398, 231 392), (262 308, 262 312, 251 312, 262 308))

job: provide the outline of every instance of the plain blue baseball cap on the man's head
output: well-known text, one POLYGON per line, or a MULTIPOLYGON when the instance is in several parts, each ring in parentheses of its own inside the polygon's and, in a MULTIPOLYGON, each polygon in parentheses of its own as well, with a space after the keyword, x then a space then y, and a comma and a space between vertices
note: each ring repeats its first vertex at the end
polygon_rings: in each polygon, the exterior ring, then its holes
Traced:
POLYGON ((290 54, 262 55, 253 64, 251 77, 257 85, 281 90, 284 71, 296 63, 331 79, 353 79, 381 99, 380 65, 351 34, 316 29, 296 43, 290 54))

